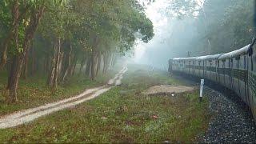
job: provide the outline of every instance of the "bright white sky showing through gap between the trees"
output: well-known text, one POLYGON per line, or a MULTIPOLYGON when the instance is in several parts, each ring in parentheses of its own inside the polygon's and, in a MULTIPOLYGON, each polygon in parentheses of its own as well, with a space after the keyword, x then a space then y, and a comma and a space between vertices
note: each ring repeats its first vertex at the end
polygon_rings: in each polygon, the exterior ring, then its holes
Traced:
MULTIPOLYGON (((141 0, 139 2, 143 2, 144 0, 141 0)), ((205 2, 205 0, 191 0, 191 2, 196 2, 196 6, 194 7, 194 17, 198 16, 199 11, 202 9, 202 6, 205 2)), ((174 0, 156 0, 155 2, 151 3, 149 6, 146 6, 146 16, 150 18, 151 22, 153 22, 154 25, 154 38, 149 43, 144 43, 138 41, 137 45, 135 46, 134 50, 134 62, 142 62, 142 58, 144 57, 144 54, 146 52, 146 49, 152 48, 152 44, 155 46, 157 43, 158 45, 161 45, 165 41, 166 36, 169 36, 166 34, 167 32, 171 31, 171 23, 173 20, 173 17, 170 16, 170 14, 176 13, 175 11, 170 9, 170 6, 172 6, 172 3, 174 0), (164 11, 164 12, 163 12, 164 11), (168 14, 168 13, 170 14, 168 14)), ((185 14, 185 10, 179 10, 180 13, 185 14)), ((173 14, 174 16, 177 14, 173 14)), ((150 62, 149 62, 150 63, 150 62)))

